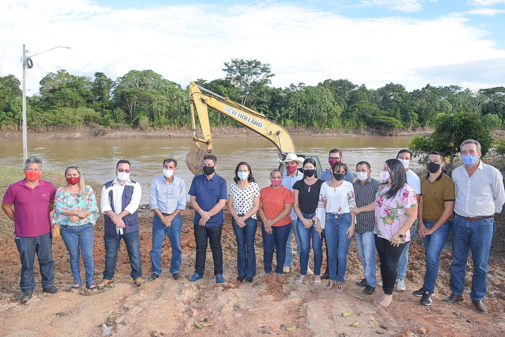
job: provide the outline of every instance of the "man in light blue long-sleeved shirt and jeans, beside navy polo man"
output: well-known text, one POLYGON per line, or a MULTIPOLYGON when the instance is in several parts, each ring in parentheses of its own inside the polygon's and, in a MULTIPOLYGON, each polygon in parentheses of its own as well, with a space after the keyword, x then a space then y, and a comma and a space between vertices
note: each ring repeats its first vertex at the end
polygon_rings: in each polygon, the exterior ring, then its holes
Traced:
POLYGON ((151 274, 154 281, 161 275, 161 249, 165 235, 170 240, 172 259, 170 273, 174 279, 181 278, 181 211, 186 209, 186 184, 182 178, 174 176, 177 161, 172 158, 163 161, 163 175, 151 182, 149 208, 155 212, 153 218, 153 249, 151 256, 151 274))

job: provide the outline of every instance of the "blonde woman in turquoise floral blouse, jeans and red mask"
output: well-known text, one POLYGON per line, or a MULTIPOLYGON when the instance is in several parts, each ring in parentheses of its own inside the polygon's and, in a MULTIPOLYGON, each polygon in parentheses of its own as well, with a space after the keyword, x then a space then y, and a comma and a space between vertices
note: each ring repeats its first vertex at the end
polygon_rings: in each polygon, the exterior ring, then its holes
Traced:
POLYGON ((96 292, 93 282, 93 225, 100 216, 95 194, 91 186, 84 183, 78 166, 65 170, 66 182, 56 191, 53 224, 60 226, 62 238, 70 255, 70 269, 74 282, 73 293, 81 286, 80 255, 86 270, 86 288, 96 292))

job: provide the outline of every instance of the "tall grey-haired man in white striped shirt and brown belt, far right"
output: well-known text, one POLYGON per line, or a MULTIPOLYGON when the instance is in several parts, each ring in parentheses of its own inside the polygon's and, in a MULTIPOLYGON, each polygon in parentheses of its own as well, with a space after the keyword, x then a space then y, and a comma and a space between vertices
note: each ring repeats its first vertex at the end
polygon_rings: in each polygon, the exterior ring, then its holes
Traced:
POLYGON ((501 172, 484 164, 480 143, 473 139, 461 144, 461 159, 465 165, 452 171, 456 189, 452 219, 452 264, 450 290, 443 300, 447 304, 463 301, 468 251, 472 250, 473 276, 470 297, 478 312, 487 313, 484 296, 487 292, 487 261, 491 240, 496 230, 494 213, 500 213, 505 203, 501 172))

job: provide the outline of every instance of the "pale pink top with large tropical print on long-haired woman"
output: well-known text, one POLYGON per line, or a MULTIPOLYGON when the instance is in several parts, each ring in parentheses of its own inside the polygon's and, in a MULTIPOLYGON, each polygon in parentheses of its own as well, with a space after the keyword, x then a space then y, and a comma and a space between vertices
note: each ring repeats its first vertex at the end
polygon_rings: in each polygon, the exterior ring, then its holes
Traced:
MULTIPOLYGON (((388 190, 389 187, 386 184, 381 184, 375 196, 374 234, 390 240, 407 219, 406 209, 417 207, 417 199, 416 192, 407 184, 403 185, 391 199, 387 199, 385 195, 388 190)), ((410 240, 411 235, 408 230, 400 240, 400 244, 405 244, 410 240)))

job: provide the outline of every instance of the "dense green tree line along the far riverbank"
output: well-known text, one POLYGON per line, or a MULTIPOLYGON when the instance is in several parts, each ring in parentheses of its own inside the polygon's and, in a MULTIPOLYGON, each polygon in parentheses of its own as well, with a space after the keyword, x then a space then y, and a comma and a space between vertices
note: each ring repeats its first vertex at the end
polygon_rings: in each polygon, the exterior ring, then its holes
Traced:
MULTIPOLYGON (((270 86, 270 65, 258 60, 224 63, 220 79, 195 82, 268 116, 283 126, 344 132, 409 129, 432 126, 439 114, 470 112, 484 125, 500 129, 505 120, 505 87, 480 90, 458 85, 407 91, 388 83, 377 89, 347 79, 326 79, 318 85, 270 86)), ((188 127, 191 125, 188 86, 165 79, 153 70, 130 70, 116 80, 103 72, 93 78, 66 70, 48 73, 39 92, 27 97, 30 126, 87 125, 124 127, 188 127)), ((0 77, 0 126, 21 125, 20 81, 0 77)), ((212 125, 238 125, 210 110, 212 125)))

